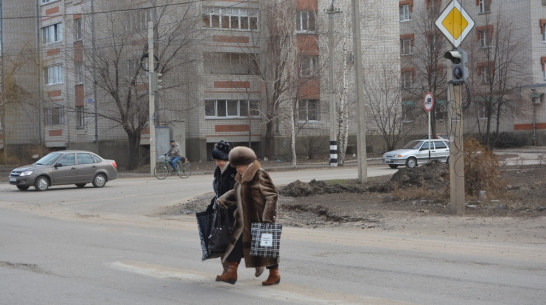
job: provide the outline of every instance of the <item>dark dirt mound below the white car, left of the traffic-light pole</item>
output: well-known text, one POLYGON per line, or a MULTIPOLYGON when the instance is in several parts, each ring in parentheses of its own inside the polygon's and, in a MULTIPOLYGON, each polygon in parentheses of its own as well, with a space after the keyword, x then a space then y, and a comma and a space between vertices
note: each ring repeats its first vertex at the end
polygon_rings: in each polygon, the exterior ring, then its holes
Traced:
POLYGON ((431 190, 442 190, 449 183, 449 165, 433 161, 414 168, 400 168, 388 182, 389 189, 394 187, 423 187, 431 190))

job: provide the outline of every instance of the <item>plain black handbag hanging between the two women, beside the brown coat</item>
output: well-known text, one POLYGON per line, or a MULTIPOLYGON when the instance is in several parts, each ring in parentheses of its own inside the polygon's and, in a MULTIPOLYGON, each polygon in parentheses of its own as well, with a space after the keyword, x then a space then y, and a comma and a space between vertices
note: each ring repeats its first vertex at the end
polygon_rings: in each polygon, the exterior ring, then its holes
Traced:
POLYGON ((212 256, 220 256, 226 252, 229 245, 229 239, 232 234, 232 228, 229 220, 228 211, 224 208, 216 206, 214 215, 214 226, 207 238, 208 252, 212 256))

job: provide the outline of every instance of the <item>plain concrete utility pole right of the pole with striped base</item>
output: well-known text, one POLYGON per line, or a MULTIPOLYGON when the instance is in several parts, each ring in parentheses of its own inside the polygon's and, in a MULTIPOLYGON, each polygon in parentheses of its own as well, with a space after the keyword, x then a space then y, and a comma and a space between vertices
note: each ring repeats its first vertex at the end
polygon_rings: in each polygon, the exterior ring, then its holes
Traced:
POLYGON ((362 95, 364 82, 362 76, 362 45, 360 42, 360 0, 353 2, 353 52, 355 53, 355 86, 358 116, 356 146, 358 155, 358 181, 368 181, 368 164, 366 161, 366 107, 362 95))

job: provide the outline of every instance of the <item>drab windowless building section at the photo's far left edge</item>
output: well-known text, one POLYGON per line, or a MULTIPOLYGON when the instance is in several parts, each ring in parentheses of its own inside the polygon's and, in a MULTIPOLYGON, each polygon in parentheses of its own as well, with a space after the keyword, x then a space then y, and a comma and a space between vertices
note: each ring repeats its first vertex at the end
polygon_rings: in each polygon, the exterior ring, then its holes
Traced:
POLYGON ((36 38, 36 4, 0 1, 2 96, 0 149, 8 144, 42 143, 39 106, 39 57, 36 38), (15 17, 21 16, 21 17, 15 17))

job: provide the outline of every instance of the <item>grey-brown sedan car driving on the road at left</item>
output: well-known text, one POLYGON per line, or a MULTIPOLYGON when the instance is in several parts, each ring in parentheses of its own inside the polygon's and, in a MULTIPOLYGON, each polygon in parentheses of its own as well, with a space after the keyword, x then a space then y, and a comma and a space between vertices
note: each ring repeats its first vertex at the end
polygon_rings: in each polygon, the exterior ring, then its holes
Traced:
POLYGON ((45 191, 52 185, 75 184, 84 187, 92 183, 103 187, 107 181, 117 178, 114 160, 83 150, 63 150, 47 154, 36 163, 18 167, 11 171, 9 183, 21 191, 34 186, 45 191))

